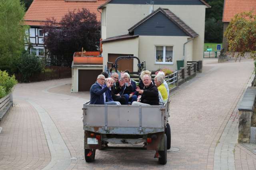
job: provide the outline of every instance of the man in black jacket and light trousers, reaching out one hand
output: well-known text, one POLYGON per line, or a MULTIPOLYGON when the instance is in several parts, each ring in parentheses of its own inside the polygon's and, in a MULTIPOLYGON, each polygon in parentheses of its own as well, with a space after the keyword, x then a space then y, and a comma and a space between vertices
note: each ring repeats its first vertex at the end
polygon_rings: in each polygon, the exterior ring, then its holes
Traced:
POLYGON ((144 88, 137 87, 136 91, 141 95, 140 102, 132 102, 132 105, 159 105, 158 89, 152 84, 151 76, 145 74, 142 78, 144 88))

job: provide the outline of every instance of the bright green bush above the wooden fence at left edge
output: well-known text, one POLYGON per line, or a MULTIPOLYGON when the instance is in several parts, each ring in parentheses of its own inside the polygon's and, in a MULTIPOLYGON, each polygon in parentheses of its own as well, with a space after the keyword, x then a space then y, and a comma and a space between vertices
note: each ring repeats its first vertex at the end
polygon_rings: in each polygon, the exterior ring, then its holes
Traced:
POLYGON ((15 84, 17 84, 17 80, 15 80, 14 75, 9 76, 6 71, 0 70, 0 98, 12 92, 15 84))

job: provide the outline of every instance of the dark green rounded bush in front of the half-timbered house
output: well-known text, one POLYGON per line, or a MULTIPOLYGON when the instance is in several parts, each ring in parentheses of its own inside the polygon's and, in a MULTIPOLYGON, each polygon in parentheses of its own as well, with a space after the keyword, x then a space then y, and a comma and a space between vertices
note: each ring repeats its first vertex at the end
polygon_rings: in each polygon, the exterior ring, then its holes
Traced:
POLYGON ((32 74, 42 72, 42 61, 35 55, 22 52, 22 55, 15 61, 18 72, 22 74, 22 82, 28 82, 32 74))

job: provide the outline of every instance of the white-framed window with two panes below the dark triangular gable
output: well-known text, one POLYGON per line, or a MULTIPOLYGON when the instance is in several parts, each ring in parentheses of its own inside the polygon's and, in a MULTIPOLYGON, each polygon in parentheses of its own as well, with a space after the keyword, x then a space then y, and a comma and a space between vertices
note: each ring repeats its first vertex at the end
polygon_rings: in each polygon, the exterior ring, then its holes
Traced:
POLYGON ((173 64, 172 46, 156 46, 156 64, 173 64))

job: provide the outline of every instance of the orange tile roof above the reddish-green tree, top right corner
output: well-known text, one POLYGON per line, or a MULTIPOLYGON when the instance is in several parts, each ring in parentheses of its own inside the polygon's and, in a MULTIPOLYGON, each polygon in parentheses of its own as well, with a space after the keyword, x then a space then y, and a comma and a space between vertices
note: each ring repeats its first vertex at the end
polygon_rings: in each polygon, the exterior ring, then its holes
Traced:
POLYGON ((222 21, 230 22, 230 20, 238 13, 256 12, 256 0, 225 0, 222 21))

